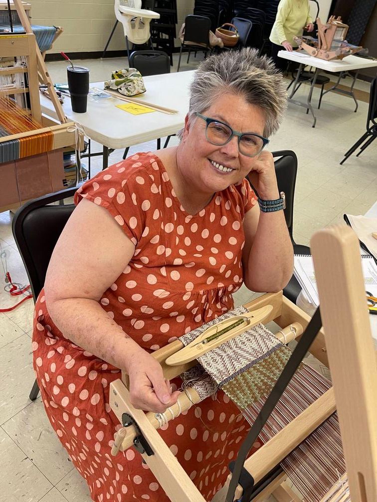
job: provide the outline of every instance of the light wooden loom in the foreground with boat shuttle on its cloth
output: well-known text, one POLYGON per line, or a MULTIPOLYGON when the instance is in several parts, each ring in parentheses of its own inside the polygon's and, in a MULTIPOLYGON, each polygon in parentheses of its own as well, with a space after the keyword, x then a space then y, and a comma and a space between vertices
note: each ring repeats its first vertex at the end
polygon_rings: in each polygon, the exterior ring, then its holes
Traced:
POLYGON ((317 232, 311 249, 321 314, 310 319, 281 292, 265 294, 155 351, 165 378, 183 381, 164 414, 130 404, 126 374, 111 384, 123 424, 112 454, 134 445, 172 502, 205 498, 156 429, 217 389, 251 425, 230 465, 226 502, 271 493, 279 502, 377 501, 377 368, 358 240, 335 226, 317 232), (260 324, 272 320, 281 327, 275 335, 260 324), (302 362, 308 350, 330 368, 333 387, 302 362), (247 458, 258 437, 263 446, 247 458))

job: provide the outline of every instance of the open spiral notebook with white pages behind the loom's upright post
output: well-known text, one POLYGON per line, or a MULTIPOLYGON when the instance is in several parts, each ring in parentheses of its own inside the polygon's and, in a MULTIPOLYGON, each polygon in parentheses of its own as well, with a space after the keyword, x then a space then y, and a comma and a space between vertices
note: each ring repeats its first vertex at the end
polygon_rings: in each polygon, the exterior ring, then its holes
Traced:
MULTIPOLYGON (((370 255, 361 255, 360 258, 365 291, 371 293, 372 296, 377 296, 377 267, 374 260, 370 255)), ((312 256, 295 255, 293 273, 308 302, 318 307, 319 297, 312 256)))

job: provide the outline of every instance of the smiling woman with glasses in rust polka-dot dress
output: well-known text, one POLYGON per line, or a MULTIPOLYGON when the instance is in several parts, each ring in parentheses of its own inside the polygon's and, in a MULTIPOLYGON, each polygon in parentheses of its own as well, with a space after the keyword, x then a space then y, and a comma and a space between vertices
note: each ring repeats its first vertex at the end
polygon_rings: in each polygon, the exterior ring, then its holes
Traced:
MULTIPOLYGON (((46 413, 93 501, 168 500, 133 449, 110 455, 109 384, 120 370, 136 408, 165 412, 181 381, 164 381, 150 352, 232 309, 243 282, 272 292, 292 275, 263 150, 285 106, 268 59, 250 49, 211 56, 196 72, 179 146, 136 154, 77 190, 36 303, 33 351, 46 413)), ((207 500, 246 432, 221 391, 160 429, 207 500)))

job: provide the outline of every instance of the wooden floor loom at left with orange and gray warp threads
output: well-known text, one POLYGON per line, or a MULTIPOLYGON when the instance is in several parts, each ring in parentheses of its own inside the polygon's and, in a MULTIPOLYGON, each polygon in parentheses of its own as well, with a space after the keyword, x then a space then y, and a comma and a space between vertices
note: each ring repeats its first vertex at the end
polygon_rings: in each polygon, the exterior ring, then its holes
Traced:
POLYGON ((0 34, 0 212, 64 188, 63 148, 79 147, 67 121, 20 0, 25 34, 0 34), (61 123, 41 113, 39 81, 61 123))

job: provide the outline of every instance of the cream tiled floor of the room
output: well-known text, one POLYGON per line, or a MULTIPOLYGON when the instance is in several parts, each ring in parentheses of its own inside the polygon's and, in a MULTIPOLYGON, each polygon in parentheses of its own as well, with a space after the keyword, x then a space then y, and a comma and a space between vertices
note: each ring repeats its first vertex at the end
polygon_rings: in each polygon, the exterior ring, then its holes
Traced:
MULTIPOLYGON (((175 58, 175 67, 177 60, 175 58)), ((87 60, 91 81, 110 77, 112 70, 126 66, 126 59, 87 60)), ((196 60, 182 70, 193 69, 196 60)), ((50 63, 49 72, 54 82, 65 81, 65 62, 50 63)), ((350 82, 347 78, 343 84, 350 82)), ((357 83, 368 91, 368 84, 357 83)), ((307 92, 302 85, 300 98, 307 92)), ((314 94, 314 103, 318 90, 314 94)), ((298 243, 308 244, 318 228, 342 221, 344 212, 363 214, 377 199, 377 142, 359 158, 354 155, 339 165, 344 152, 365 131, 367 103, 360 102, 353 113, 353 101, 335 93, 327 94, 318 111, 317 126, 305 109, 289 105, 284 123, 272 139, 271 150, 294 150, 299 159, 294 213, 294 237, 298 243)), ((172 138, 171 145, 177 140, 172 138)), ((137 145, 131 152, 155 149, 155 142, 137 145)), ((130 152, 130 153, 131 153, 130 152)), ((110 162, 121 159, 123 151, 115 151, 110 162)), ((102 160, 93 164, 93 172, 101 169, 102 160)), ((0 246, 3 265, 14 282, 27 283, 27 276, 18 254, 11 230, 11 214, 0 214, 0 246)), ((13 304, 4 291, 0 265, 0 308, 13 304)), ((236 303, 253 297, 241 288, 236 303)), ((31 357, 32 300, 13 312, 0 313, 0 500, 7 502, 89 502, 85 483, 78 475, 52 433, 39 399, 34 403, 28 395, 34 381, 31 357)))

